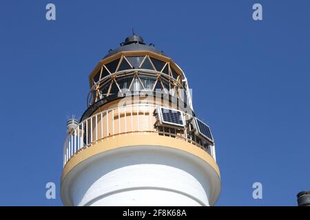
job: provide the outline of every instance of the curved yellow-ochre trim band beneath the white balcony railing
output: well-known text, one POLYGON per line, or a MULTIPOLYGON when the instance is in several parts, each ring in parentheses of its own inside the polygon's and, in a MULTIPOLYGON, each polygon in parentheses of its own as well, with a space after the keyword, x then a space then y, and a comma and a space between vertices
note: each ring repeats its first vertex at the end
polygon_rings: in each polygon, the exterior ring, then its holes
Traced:
POLYGON ((109 139, 104 139, 102 142, 98 142, 97 144, 93 144, 92 146, 82 150, 77 153, 74 157, 70 158, 70 160, 65 164, 63 168, 63 173, 61 175, 61 179, 63 180, 65 176, 76 166, 77 164, 83 162, 85 159, 92 157, 96 154, 110 151, 116 148, 126 147, 126 146, 165 146, 170 148, 175 148, 181 151, 185 151, 187 153, 191 153, 200 159, 203 159, 207 162, 214 170, 216 171, 218 177, 220 177, 220 170, 218 165, 214 161, 213 157, 209 155, 206 151, 199 148, 198 146, 193 146, 189 142, 185 142, 184 140, 165 137, 152 133, 136 133, 130 135, 116 135, 114 137, 109 137, 109 139))

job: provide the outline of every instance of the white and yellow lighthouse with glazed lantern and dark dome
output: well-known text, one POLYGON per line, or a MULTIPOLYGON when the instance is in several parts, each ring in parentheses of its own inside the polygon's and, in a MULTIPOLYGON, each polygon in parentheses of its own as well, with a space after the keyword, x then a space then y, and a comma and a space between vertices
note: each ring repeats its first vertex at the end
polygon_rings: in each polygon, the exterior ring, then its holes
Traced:
POLYGON ((65 206, 216 203, 214 137, 195 114, 185 73, 172 58, 133 34, 99 61, 89 83, 85 112, 67 122, 65 206))

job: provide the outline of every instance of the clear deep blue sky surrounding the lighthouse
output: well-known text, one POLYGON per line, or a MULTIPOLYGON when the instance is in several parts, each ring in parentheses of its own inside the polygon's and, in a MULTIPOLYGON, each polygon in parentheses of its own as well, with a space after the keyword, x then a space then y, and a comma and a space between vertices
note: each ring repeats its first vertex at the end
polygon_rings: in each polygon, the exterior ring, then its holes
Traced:
POLYGON ((218 206, 296 206, 310 189, 309 1, 0 1, 0 205, 62 205, 65 122, 132 32, 187 74, 216 139, 218 206), (45 5, 56 5, 46 21, 45 5), (261 3, 263 20, 252 19, 261 3), (206 90, 207 89, 207 90, 206 90), (56 183, 55 200, 45 184, 56 183), (260 181, 263 199, 252 198, 260 181))

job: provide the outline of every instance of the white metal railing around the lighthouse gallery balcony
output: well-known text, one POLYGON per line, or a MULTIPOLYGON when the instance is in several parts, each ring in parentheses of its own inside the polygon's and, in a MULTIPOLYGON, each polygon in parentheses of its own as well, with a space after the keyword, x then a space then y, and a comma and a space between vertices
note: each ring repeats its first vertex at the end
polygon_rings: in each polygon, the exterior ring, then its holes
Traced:
POLYGON ((63 166, 71 157, 92 146, 92 144, 128 133, 158 133, 158 135, 182 139, 203 148, 215 159, 214 146, 210 148, 199 140, 196 135, 189 131, 188 125, 185 126, 184 130, 157 126, 156 115, 154 115, 155 109, 156 105, 154 104, 115 107, 83 120, 65 139, 63 166))

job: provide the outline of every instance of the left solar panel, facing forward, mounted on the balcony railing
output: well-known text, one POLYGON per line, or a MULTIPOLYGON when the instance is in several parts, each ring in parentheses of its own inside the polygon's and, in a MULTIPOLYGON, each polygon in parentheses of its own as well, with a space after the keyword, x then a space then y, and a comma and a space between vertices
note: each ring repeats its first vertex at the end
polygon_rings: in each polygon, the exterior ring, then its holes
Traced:
POLYGON ((185 126, 183 114, 175 109, 158 108, 161 124, 171 124, 174 126, 185 126))

